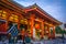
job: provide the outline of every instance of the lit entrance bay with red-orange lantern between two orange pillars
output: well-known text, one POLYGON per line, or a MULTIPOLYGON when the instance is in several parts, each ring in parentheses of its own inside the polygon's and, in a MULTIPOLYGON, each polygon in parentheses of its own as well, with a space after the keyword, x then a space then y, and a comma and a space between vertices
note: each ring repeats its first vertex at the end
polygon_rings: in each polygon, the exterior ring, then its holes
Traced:
POLYGON ((33 33, 36 40, 41 40, 41 23, 37 21, 34 23, 33 33))

